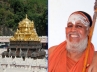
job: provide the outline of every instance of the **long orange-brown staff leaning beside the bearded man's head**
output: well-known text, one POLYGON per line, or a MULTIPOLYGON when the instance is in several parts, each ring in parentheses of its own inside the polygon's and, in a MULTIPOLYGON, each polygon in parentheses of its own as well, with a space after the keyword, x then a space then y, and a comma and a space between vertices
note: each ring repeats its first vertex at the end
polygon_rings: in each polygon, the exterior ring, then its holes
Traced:
POLYGON ((95 5, 94 5, 93 21, 92 21, 92 26, 90 28, 88 46, 87 46, 87 49, 86 49, 86 55, 85 55, 84 66, 83 66, 82 72, 86 72, 88 55, 89 55, 89 49, 90 49, 90 44, 91 44, 91 40, 92 40, 92 36, 93 36, 93 31, 94 31, 95 23, 96 23, 96 18, 97 18, 97 0, 95 1, 95 5))

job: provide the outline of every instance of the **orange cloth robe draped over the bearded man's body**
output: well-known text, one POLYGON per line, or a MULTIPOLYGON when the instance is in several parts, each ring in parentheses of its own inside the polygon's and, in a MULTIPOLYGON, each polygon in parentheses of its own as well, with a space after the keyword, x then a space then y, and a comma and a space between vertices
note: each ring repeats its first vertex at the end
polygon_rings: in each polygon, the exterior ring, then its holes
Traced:
MULTIPOLYGON (((94 55, 93 45, 91 44, 90 47, 87 64, 91 64, 94 55)), ((82 72, 85 53, 86 51, 82 54, 81 58, 75 62, 67 57, 66 41, 62 42, 48 58, 48 72, 82 72)))

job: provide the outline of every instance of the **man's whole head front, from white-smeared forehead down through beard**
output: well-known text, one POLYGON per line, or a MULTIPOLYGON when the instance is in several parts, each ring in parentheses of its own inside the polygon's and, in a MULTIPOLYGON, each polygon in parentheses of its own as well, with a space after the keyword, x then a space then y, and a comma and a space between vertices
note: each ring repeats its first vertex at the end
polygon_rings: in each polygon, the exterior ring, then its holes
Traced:
POLYGON ((82 14, 72 14, 67 22, 66 40, 67 50, 82 52, 88 43, 89 20, 82 14))

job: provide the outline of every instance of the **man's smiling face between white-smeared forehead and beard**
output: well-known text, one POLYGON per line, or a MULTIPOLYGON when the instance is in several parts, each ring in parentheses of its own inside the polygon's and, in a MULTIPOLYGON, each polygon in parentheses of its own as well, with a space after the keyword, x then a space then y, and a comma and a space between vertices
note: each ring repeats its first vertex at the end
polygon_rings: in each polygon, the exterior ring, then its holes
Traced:
POLYGON ((66 38, 69 40, 69 42, 78 43, 85 39, 87 35, 88 28, 81 22, 81 20, 68 22, 66 27, 66 38))

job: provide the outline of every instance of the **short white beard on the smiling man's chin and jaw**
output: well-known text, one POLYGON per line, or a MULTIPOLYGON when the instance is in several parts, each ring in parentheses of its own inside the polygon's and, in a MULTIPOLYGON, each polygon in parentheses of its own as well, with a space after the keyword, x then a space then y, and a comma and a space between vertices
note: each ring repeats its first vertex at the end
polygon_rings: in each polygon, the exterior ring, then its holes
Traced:
POLYGON ((86 49, 87 44, 88 44, 88 37, 76 43, 70 42, 67 39, 66 49, 69 52, 83 52, 86 49))

